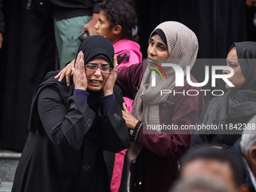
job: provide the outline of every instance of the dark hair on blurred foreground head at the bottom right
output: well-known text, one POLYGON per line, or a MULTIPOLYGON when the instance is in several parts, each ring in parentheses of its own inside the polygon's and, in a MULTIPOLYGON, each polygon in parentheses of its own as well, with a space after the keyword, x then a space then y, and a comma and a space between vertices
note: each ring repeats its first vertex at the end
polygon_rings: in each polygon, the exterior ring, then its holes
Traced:
POLYGON ((237 160, 235 155, 230 151, 211 147, 197 148, 187 154, 187 157, 185 157, 181 163, 181 169, 185 164, 197 159, 218 160, 229 163, 233 171, 232 175, 234 183, 237 186, 243 183, 245 178, 245 170, 242 169, 241 161, 237 160))

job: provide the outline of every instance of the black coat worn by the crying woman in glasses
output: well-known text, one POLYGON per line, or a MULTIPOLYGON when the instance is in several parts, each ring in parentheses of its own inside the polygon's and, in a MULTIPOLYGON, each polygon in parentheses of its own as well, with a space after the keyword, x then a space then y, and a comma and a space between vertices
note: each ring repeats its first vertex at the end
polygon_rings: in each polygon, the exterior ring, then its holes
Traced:
POLYGON ((99 98, 88 96, 87 104, 73 96, 74 84, 67 87, 65 79, 58 82, 54 75, 35 91, 12 191, 110 191, 102 151, 130 146, 120 88, 114 87, 114 103, 102 115, 99 98), (89 107, 90 102, 95 105, 89 107))

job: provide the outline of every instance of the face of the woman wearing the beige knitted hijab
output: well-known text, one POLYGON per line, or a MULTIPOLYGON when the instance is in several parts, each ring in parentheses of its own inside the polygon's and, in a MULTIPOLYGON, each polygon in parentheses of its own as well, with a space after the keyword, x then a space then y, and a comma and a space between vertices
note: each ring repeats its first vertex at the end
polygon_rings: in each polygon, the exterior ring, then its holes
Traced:
MULTIPOLYGON (((158 65, 161 65, 163 60, 168 59, 168 57, 168 48, 162 38, 157 34, 153 35, 148 44, 148 61, 157 62, 158 65)), ((149 69, 152 68, 149 67, 149 69)))

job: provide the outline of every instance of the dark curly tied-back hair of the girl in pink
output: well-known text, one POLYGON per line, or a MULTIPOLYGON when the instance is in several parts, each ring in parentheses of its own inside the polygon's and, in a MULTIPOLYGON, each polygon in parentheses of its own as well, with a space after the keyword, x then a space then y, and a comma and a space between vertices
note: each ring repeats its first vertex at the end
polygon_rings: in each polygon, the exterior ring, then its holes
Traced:
POLYGON ((122 27, 121 38, 139 41, 137 33, 133 34, 133 31, 138 31, 138 19, 133 0, 105 0, 100 4, 100 9, 105 12, 110 28, 116 25, 122 27))

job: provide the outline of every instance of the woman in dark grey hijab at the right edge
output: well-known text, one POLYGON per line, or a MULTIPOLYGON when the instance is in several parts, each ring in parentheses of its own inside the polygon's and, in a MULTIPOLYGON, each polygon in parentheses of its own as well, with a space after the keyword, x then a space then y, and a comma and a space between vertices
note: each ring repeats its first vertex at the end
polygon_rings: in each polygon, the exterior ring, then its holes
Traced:
MULTIPOLYGON (((227 66, 233 68, 234 74, 228 80, 235 87, 226 84, 227 92, 207 103, 198 122, 198 125, 214 125, 220 128, 213 132, 196 132, 191 148, 198 145, 229 148, 239 139, 248 120, 256 114, 255 59, 256 42, 238 42, 230 47, 227 66)), ((230 71, 224 70, 223 73, 229 74, 230 71)))

